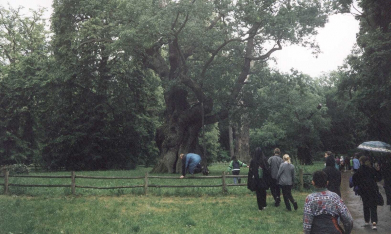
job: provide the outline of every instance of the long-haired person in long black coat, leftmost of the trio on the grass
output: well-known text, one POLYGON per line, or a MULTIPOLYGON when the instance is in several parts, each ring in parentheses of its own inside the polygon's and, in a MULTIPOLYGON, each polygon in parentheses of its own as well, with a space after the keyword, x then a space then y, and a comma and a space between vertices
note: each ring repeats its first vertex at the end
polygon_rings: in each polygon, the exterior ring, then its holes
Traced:
POLYGON ((247 177, 247 188, 257 194, 258 209, 266 208, 266 190, 270 187, 270 168, 261 148, 255 149, 255 154, 250 162, 247 177))

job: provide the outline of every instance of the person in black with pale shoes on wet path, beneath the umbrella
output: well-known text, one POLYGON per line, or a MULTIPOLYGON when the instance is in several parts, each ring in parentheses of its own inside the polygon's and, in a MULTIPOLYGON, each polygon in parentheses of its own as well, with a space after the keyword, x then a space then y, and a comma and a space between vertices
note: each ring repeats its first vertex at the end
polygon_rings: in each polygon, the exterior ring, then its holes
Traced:
POLYGON ((363 200, 365 225, 369 226, 369 219, 372 222, 372 229, 377 230, 377 193, 378 181, 382 180, 379 167, 373 168, 367 156, 360 157, 361 167, 354 173, 352 178, 353 186, 358 186, 359 195, 363 200))

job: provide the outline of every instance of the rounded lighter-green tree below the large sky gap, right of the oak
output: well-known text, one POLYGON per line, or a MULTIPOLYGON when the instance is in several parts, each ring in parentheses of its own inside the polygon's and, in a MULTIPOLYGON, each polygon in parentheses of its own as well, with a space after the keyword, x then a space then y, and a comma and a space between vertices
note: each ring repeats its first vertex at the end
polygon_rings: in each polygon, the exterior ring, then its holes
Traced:
MULTIPOLYGON (((280 74, 259 67, 246 92, 250 105, 250 145, 261 146, 265 154, 275 147, 289 155, 297 155, 297 147, 310 147, 314 153, 322 149, 320 136, 330 126, 321 88, 312 78, 292 72, 280 74), (267 111, 266 111, 267 110, 267 111)), ((269 153, 270 152, 270 153, 269 153)))

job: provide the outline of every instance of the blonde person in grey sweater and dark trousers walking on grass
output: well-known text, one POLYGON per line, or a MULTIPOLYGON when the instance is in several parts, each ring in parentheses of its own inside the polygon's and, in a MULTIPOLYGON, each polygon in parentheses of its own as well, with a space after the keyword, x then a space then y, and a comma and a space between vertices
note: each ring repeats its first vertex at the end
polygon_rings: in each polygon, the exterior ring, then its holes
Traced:
POLYGON ((293 208, 297 210, 297 202, 293 199, 291 189, 295 184, 295 166, 290 162, 289 155, 282 157, 284 162, 280 165, 280 169, 277 174, 277 181, 282 190, 282 196, 284 198, 285 207, 288 211, 292 211, 290 202, 293 204, 293 208))

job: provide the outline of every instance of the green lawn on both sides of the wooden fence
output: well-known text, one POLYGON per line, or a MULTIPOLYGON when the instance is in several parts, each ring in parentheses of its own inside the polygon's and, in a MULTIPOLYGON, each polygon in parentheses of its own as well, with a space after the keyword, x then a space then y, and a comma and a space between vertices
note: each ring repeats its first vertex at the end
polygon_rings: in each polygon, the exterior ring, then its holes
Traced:
MULTIPOLYGON (((212 175, 221 175, 227 166, 211 166, 212 175)), ((76 175, 143 176, 150 170, 140 167, 134 171, 76 172, 76 175)), ((247 172, 243 168, 241 175, 247 172)), ((70 175, 70 172, 31 175, 70 175)), ((233 183, 232 180, 227 178, 227 183, 233 183)), ((246 178, 242 181, 246 183, 246 178)), ((70 184, 70 179, 10 177, 10 183, 70 184)), ((76 179, 77 185, 97 187, 143 183, 143 179, 76 179)), ((149 183, 205 185, 221 184, 221 179, 150 179, 149 183)), ((11 195, 0 195, 0 234, 298 234, 303 232, 304 199, 310 193, 293 190, 299 209, 287 212, 283 202, 274 207, 270 191, 266 210, 258 211, 256 196, 246 187, 228 187, 225 195, 221 187, 149 188, 148 195, 144 195, 143 188, 76 188, 76 196, 70 195, 68 188, 10 187, 10 191, 11 195)))

